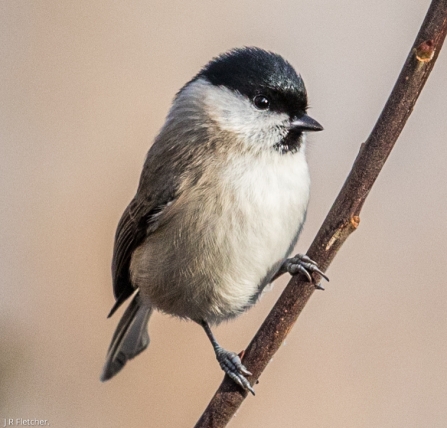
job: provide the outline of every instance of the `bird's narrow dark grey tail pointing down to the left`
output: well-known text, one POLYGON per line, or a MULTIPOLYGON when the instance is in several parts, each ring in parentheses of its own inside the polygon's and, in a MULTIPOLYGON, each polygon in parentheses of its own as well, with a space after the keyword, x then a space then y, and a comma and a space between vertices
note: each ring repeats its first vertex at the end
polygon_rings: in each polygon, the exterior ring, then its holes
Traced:
POLYGON ((147 323, 153 308, 143 305, 138 292, 124 312, 110 343, 101 374, 105 382, 115 376, 130 360, 149 345, 147 323))

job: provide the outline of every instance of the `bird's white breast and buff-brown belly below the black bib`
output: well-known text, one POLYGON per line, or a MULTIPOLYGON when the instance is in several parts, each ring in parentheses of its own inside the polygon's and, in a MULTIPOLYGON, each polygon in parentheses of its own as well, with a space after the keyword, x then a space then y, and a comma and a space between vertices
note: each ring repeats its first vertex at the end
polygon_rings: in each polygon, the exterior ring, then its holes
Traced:
POLYGON ((210 323, 238 315, 288 255, 309 184, 302 152, 228 162, 166 210, 160 228, 134 252, 133 283, 173 315, 210 323))

